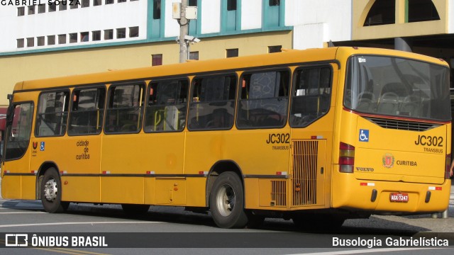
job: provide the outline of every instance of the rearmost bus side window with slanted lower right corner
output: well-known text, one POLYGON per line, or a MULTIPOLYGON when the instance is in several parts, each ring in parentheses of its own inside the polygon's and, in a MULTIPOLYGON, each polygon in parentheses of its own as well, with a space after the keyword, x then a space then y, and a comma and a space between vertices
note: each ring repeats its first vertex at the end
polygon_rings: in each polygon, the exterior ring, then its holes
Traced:
POLYGON ((294 73, 290 125, 305 127, 328 113, 331 105, 331 68, 306 67, 294 73))

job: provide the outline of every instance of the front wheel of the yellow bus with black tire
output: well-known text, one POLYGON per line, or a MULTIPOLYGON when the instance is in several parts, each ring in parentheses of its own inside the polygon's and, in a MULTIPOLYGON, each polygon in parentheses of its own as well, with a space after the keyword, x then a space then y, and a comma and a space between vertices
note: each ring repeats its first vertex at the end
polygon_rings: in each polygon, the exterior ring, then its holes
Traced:
POLYGON ((62 201, 62 182, 55 168, 45 171, 41 181, 41 203, 44 210, 50 213, 65 212, 70 202, 62 201))

